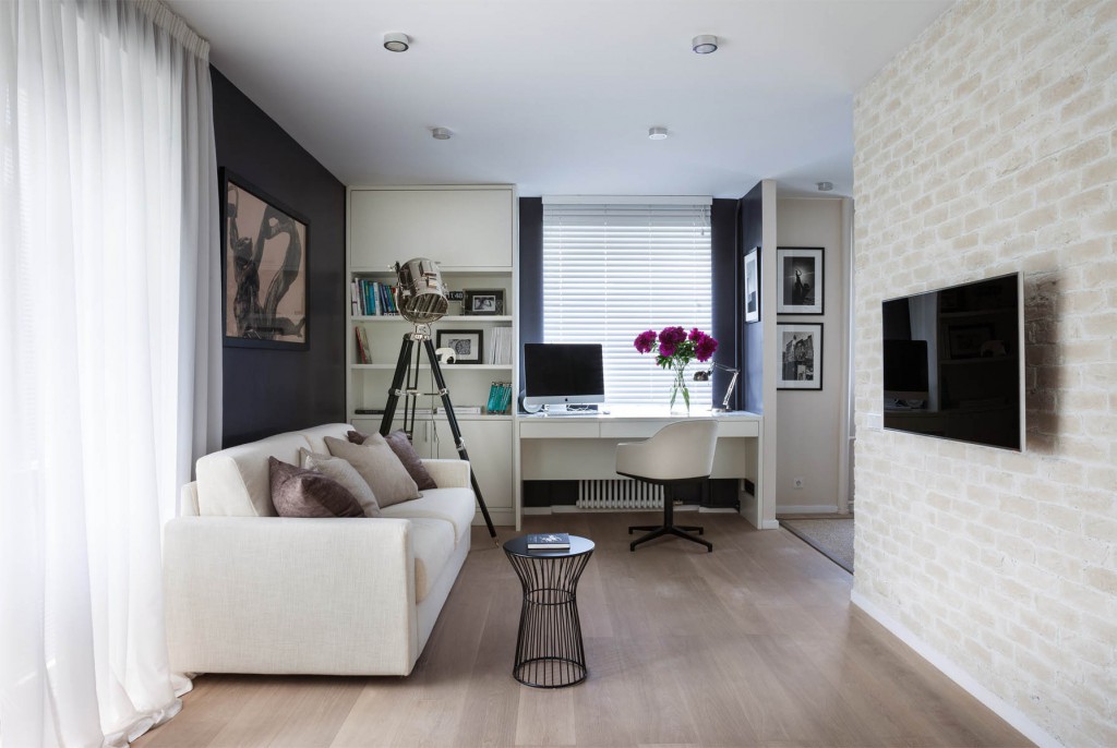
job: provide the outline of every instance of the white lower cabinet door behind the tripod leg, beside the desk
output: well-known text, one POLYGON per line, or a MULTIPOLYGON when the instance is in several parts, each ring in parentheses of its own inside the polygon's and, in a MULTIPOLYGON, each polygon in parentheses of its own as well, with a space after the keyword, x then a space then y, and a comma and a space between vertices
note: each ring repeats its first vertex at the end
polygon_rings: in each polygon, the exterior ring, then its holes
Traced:
MULTIPOLYGON (((469 464, 477 476, 477 485, 493 521, 497 525, 513 524, 512 421, 458 421, 458 425, 469 453, 469 464)), ((457 458, 450 424, 439 420, 435 422, 435 428, 438 430, 439 457, 457 458)))

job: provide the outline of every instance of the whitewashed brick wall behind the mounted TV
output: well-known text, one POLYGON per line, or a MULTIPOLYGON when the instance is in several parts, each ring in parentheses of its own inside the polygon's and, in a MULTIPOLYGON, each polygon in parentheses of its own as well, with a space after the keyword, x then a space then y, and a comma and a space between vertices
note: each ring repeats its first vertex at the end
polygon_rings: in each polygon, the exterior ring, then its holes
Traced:
POLYGON ((963 0, 855 107, 856 592, 1117 745, 1117 1, 963 0), (885 432, 884 298, 1023 271, 1023 454, 885 432))

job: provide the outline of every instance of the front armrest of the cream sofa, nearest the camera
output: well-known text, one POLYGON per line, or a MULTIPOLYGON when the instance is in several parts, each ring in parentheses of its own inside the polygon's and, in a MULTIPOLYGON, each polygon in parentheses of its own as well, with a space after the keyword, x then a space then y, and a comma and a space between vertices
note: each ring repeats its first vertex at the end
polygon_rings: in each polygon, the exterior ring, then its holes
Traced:
POLYGON ((163 581, 176 672, 405 675, 419 656, 405 519, 173 519, 163 581))

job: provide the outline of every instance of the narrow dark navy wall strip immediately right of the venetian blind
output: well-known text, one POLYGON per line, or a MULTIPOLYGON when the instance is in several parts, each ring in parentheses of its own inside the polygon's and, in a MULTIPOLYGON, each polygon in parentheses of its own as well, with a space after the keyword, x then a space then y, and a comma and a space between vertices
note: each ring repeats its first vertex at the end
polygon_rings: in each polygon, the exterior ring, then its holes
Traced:
MULTIPOLYGON (((714 361, 725 366, 741 368, 737 349, 734 345, 739 335, 738 320, 741 319, 741 305, 738 303, 738 288, 741 286, 741 260, 737 251, 737 205, 736 200, 716 199, 710 208, 710 265, 713 266, 714 282, 710 289, 710 300, 713 303, 714 329, 710 330, 718 342, 717 353, 714 361)), ((701 364, 696 364, 701 366, 701 364)), ((733 374, 722 370, 714 372, 714 406, 717 407, 725 399, 725 389, 729 386, 733 374)), ((729 400, 729 407, 739 407, 739 387, 733 393, 729 400)))

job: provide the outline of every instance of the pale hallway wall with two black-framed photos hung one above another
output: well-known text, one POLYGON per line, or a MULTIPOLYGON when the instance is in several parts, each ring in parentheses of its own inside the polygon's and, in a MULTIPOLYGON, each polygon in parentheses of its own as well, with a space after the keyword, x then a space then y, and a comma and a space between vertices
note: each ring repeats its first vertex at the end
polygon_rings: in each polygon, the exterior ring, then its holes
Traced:
MULTIPOLYGON (((822 323, 822 390, 776 393, 776 512, 844 510, 841 470, 847 387, 844 335, 844 253, 842 201, 780 199, 776 242, 780 247, 822 247, 824 286, 822 315, 780 315, 777 322, 822 323), (803 488, 794 479, 803 479, 803 488)), ((779 279, 776 279, 779 281, 779 279)), ((775 309, 775 304, 768 306, 775 309)))

